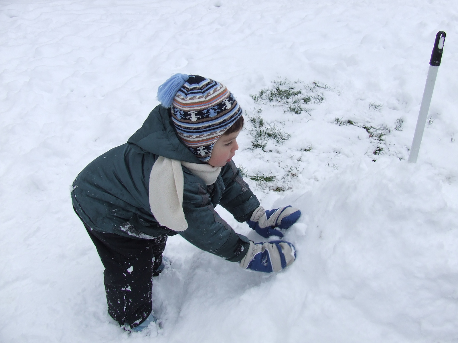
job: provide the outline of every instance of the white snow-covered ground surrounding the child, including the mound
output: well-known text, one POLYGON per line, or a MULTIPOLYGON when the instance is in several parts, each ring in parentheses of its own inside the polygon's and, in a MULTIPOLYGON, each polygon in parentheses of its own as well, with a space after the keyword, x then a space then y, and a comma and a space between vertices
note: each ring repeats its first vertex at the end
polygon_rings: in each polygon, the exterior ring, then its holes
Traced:
POLYGON ((458 342, 457 2, 3 0, 0 20, 2 343, 458 342), (266 208, 303 211, 285 236, 298 258, 248 273, 171 237, 173 268, 153 290, 162 327, 128 335, 106 313, 69 188, 141 126, 174 72, 221 81, 246 110, 234 161, 275 177, 247 179, 266 208), (277 77, 322 101, 296 114, 250 97, 277 77), (256 113, 289 139, 253 149, 256 113))

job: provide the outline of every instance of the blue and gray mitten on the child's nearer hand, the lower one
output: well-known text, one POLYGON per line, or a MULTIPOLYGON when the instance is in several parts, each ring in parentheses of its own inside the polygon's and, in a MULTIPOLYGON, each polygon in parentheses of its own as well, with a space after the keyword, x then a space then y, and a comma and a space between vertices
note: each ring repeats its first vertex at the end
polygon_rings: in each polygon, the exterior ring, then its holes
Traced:
POLYGON ((240 261, 240 267, 255 272, 279 272, 293 263, 295 259, 296 250, 289 242, 254 243, 250 241, 250 247, 240 261))

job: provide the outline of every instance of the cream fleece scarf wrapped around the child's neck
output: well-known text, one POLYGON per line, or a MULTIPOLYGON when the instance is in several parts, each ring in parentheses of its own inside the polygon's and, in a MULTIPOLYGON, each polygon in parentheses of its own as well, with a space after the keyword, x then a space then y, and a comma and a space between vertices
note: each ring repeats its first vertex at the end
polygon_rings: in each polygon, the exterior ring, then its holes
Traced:
POLYGON ((200 177, 207 185, 216 182, 221 167, 190 163, 160 156, 149 176, 149 205, 160 225, 184 231, 188 223, 183 212, 183 170, 181 165, 200 177))

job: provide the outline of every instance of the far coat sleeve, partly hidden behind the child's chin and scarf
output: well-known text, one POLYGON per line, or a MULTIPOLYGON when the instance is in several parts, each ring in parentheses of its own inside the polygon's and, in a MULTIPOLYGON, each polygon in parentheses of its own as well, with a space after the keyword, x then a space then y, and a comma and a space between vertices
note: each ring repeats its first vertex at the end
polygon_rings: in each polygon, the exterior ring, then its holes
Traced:
POLYGON ((260 204, 248 184, 243 181, 234 161, 229 161, 223 167, 221 177, 225 190, 219 204, 227 209, 238 222, 249 220, 253 211, 260 204))

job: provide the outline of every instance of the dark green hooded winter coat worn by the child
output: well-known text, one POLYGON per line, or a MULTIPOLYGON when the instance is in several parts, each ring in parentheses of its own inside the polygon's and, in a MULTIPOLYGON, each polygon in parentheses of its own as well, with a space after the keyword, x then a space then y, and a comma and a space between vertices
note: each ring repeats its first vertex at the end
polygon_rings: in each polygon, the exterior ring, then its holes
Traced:
MULTIPOLYGON (((76 212, 93 230, 101 232, 136 239, 177 234, 160 226, 149 206, 149 176, 159 156, 202 163, 181 143, 170 110, 160 105, 126 144, 99 156, 76 177, 71 191, 76 212)), ((209 186, 186 167, 182 169, 183 211, 189 227, 178 233, 202 250, 239 262, 249 240, 235 233, 214 207, 219 203, 243 222, 259 206, 256 196, 233 161, 221 169, 216 182, 209 186)))

